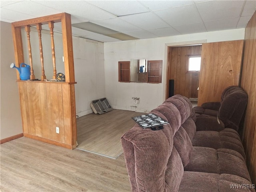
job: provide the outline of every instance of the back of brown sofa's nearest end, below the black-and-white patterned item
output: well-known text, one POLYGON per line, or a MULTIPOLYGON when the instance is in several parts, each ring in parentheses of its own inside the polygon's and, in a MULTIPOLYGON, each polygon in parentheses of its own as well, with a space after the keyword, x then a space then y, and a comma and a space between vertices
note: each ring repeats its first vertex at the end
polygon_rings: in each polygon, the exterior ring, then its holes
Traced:
POLYGON ((121 138, 132 191, 164 192, 172 146, 162 132, 134 127, 121 138))

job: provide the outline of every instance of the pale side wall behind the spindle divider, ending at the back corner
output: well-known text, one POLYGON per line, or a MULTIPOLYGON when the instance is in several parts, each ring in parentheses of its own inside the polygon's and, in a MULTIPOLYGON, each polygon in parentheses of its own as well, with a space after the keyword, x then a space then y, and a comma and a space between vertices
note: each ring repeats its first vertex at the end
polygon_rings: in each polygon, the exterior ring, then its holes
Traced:
MULTIPOLYGON (((72 37, 74 70, 75 70, 75 96, 76 114, 84 116, 92 113, 90 102, 105 97, 104 77, 104 45, 102 42, 72 37)), ((24 62, 30 65, 28 56, 28 41, 26 32, 22 29, 24 62)), ((36 78, 41 78, 41 61, 38 32, 31 28, 30 44, 32 49, 32 62, 36 78)), ((64 73, 62 34, 54 33, 55 57, 57 73, 64 73)), ((47 79, 53 75, 52 49, 50 32, 42 30, 42 46, 44 55, 44 70, 47 79)))

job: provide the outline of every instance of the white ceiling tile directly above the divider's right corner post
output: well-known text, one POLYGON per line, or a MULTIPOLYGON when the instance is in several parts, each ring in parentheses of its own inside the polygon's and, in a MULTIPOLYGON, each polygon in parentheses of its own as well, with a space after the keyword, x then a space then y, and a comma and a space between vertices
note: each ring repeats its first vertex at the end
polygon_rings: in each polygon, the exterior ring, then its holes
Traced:
POLYGON ((86 1, 81 0, 36 0, 35 2, 53 7, 61 12, 66 12, 84 21, 102 20, 116 17, 113 14, 110 14, 86 1))

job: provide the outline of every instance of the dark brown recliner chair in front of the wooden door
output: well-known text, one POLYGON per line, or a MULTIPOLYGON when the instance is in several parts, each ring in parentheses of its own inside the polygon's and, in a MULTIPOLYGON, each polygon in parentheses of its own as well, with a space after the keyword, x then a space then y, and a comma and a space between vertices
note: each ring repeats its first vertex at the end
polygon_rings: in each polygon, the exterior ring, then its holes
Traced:
POLYGON ((218 117, 226 128, 240 132, 247 102, 248 95, 242 88, 229 86, 222 92, 220 102, 206 102, 193 109, 196 116, 218 117))

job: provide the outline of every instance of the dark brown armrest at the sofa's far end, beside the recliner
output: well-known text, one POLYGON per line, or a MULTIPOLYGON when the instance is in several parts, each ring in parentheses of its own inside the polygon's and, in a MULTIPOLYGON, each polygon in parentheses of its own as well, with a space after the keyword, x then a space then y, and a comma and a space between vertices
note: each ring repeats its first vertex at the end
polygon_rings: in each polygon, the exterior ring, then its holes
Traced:
POLYGON ((201 115, 196 117, 196 131, 221 131, 224 130, 224 123, 216 117, 201 115))

